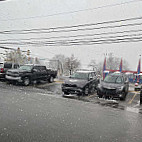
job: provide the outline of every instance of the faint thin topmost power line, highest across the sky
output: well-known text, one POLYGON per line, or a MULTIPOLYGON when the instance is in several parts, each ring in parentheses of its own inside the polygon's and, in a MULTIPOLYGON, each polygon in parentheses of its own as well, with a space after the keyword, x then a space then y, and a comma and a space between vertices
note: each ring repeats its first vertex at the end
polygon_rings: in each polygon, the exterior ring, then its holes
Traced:
POLYGON ((121 3, 116 3, 116 4, 108 4, 108 5, 94 7, 94 8, 80 9, 80 10, 76 10, 76 11, 49 14, 49 15, 45 15, 45 16, 32 16, 32 17, 27 17, 27 18, 15 18, 15 19, 1 19, 0 21, 15 21, 15 20, 28 20, 28 19, 37 19, 37 18, 47 18, 47 17, 58 16, 58 15, 67 15, 67 14, 79 13, 79 12, 84 12, 84 11, 92 11, 92 10, 97 10, 97 9, 102 9, 102 8, 115 7, 115 6, 119 6, 119 5, 125 5, 125 4, 130 4, 130 3, 141 2, 141 1, 142 0, 132 0, 132 1, 121 2, 121 3))

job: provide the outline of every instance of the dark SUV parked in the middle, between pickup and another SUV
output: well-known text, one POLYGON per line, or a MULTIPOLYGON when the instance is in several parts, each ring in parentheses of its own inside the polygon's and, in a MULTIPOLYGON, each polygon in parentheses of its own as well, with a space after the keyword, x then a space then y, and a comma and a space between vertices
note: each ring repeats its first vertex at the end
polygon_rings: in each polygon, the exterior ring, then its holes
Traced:
POLYGON ((63 96, 69 94, 88 95, 94 92, 99 79, 94 71, 76 71, 62 84, 63 96))

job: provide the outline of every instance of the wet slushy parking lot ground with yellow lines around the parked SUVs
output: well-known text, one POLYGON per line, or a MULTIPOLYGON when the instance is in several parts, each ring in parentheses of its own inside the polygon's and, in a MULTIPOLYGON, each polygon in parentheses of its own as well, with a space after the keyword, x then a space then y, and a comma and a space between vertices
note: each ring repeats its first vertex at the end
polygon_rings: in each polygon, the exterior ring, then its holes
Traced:
MULTIPOLYGON (((42 88, 44 90, 48 90, 53 95, 56 94, 62 97, 61 84, 62 84, 62 81, 56 80, 54 83, 40 84, 40 85, 37 85, 36 87, 42 88)), ((133 84, 129 85, 129 93, 126 96, 125 101, 120 101, 119 99, 108 100, 108 99, 98 98, 96 92, 85 97, 78 97, 76 95, 71 94, 69 97, 66 97, 66 98, 77 99, 84 102, 91 102, 94 104, 99 104, 101 106, 113 107, 113 108, 122 109, 122 110, 135 112, 135 113, 142 113, 142 107, 140 106, 140 92, 134 91, 133 84)))

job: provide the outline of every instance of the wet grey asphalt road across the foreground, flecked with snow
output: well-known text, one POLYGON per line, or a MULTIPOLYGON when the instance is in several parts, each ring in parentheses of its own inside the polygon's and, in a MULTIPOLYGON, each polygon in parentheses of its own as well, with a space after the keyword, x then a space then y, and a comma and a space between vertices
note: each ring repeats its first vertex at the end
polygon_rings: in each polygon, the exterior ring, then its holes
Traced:
POLYGON ((59 82, 42 85, 0 82, 0 142, 142 141, 141 113, 63 98, 59 82))

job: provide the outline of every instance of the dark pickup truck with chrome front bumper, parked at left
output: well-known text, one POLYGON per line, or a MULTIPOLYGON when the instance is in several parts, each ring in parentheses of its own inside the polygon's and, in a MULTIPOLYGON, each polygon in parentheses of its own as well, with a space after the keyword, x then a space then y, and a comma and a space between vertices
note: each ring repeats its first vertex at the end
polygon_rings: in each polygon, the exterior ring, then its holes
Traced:
POLYGON ((28 86, 30 83, 37 83, 41 80, 53 82, 57 71, 47 69, 46 66, 27 64, 18 69, 10 69, 6 72, 6 79, 9 82, 23 83, 28 86))

